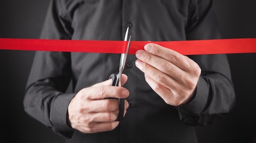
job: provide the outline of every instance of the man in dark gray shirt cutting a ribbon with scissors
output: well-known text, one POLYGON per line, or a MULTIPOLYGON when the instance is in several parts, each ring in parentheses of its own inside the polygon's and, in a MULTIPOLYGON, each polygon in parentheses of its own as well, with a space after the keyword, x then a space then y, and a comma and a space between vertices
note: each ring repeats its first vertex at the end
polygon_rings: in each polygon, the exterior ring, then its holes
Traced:
MULTIPOLYGON (((137 41, 218 39, 211 0, 52 0, 41 38, 137 41)), ((85 45, 86 48, 86 45, 85 45)), ((191 47, 193 48, 193 47, 191 47)), ((205 47, 207 48, 207 47, 205 47)), ((196 143, 195 125, 222 119, 235 95, 226 55, 184 56, 156 44, 128 55, 37 52, 25 111, 68 143, 196 143), (72 79, 73 93, 65 93, 72 79), (115 121, 126 98, 124 119, 115 121)))

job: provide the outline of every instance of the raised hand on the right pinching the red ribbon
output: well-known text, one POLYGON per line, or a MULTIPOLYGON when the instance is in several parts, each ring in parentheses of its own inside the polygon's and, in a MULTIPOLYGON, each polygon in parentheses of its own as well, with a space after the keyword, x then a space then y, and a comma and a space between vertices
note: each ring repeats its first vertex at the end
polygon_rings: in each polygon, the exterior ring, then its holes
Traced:
POLYGON ((138 50, 135 62, 146 82, 172 106, 188 103, 193 97, 201 69, 192 59, 157 44, 138 50))

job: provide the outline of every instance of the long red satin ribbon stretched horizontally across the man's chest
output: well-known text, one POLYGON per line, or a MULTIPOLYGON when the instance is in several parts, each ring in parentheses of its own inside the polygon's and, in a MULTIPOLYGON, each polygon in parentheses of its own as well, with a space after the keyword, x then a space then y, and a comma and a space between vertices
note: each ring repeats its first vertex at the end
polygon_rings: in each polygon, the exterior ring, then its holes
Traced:
MULTIPOLYGON (((159 44, 183 55, 256 53, 256 38, 242 38, 166 42, 131 41, 129 54, 144 49, 147 43, 159 44)), ((126 45, 127 41, 0 38, 0 49, 3 50, 124 53, 126 45)))

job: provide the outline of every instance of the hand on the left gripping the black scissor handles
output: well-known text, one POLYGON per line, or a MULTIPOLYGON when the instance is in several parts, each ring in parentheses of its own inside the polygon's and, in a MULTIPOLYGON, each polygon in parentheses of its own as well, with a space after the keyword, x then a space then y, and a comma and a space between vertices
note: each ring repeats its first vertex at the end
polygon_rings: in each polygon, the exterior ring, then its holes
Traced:
MULTIPOLYGON (((122 75, 122 85, 127 76, 122 75)), ((126 98, 129 91, 126 88, 111 86, 112 79, 95 84, 80 90, 70 101, 67 113, 68 124, 84 133, 97 133, 114 130, 119 124, 115 121, 119 112, 117 99, 108 97, 126 98)), ((125 111, 129 103, 125 100, 125 111)))

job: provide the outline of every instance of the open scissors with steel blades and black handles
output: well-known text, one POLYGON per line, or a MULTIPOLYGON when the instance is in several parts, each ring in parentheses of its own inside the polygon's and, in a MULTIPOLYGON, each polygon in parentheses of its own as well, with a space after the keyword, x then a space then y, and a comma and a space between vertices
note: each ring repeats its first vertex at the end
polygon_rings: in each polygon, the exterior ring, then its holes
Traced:
MULTIPOLYGON (((128 40, 128 30, 129 30, 129 27, 127 27, 126 34, 124 36, 124 41, 128 40)), ((113 73, 109 77, 109 79, 112 79, 112 86, 121 86, 121 75, 123 73, 123 70, 126 64, 127 55, 130 48, 130 42, 131 42, 131 36, 129 37, 125 53, 122 53, 120 57, 119 73, 118 74, 113 73)), ((111 99, 117 99, 117 98, 111 98, 111 99)), ((124 117, 124 99, 118 98, 118 101, 119 101, 119 113, 116 121, 121 121, 124 117)))

